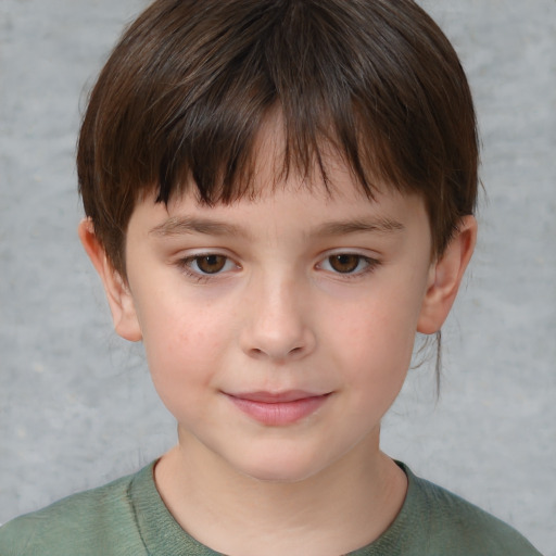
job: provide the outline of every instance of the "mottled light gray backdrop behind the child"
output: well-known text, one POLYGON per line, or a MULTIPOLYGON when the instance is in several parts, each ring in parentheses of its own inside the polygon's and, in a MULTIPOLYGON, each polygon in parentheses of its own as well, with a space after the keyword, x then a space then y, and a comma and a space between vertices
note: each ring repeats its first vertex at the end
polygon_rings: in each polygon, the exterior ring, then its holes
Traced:
MULTIPOLYGON (((480 242, 383 446, 556 555, 556 2, 427 0, 483 141, 480 242)), ((112 332, 75 229, 79 111, 142 0, 0 1, 0 522, 137 469, 175 439, 112 332), (85 84, 85 87, 84 87, 85 84)))

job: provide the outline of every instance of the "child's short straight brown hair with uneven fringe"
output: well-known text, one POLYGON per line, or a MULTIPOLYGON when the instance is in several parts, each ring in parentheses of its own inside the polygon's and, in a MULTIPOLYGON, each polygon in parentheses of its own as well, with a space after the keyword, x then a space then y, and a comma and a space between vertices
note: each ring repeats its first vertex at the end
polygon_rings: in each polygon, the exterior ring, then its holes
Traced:
POLYGON ((306 176, 316 161, 328 184, 331 144, 369 198, 380 184, 422 195, 434 255, 473 212, 471 94, 415 2, 157 0, 112 52, 79 137, 79 191, 116 270, 125 276, 140 195, 166 203, 191 185, 206 203, 253 193, 254 139, 276 109, 286 174, 306 176))

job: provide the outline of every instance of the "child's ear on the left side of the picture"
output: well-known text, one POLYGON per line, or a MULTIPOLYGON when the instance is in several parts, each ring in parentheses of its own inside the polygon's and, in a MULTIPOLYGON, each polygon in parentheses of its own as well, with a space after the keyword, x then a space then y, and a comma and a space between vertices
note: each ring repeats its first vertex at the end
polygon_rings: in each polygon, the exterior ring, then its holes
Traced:
POLYGON ((94 235, 92 220, 84 218, 77 231, 85 251, 104 285, 116 332, 126 340, 138 342, 142 339, 142 334, 129 286, 109 261, 104 248, 94 235))

